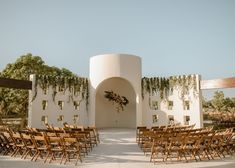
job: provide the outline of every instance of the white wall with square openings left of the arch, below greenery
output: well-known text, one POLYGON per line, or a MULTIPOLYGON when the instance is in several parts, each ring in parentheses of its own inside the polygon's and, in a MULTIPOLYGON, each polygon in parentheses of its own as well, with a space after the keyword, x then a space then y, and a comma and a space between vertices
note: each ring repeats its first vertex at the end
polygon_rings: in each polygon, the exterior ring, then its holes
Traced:
MULTIPOLYGON (((31 75, 30 80, 32 81, 33 86, 35 86, 36 76, 31 75)), ((67 122, 69 124, 76 125, 87 125, 87 111, 85 100, 81 101, 82 98, 80 95, 73 96, 71 100, 71 93, 66 90, 65 92, 58 92, 55 96, 55 100, 52 97, 52 87, 49 87, 48 93, 44 94, 43 90, 38 86, 37 87, 37 96, 32 101, 34 96, 35 89, 29 91, 29 115, 28 115, 28 126, 34 128, 45 128, 45 125, 42 123, 42 116, 48 117, 48 124, 53 126, 63 127, 63 123, 67 122), (42 108, 42 101, 48 101, 48 106, 45 110, 42 108), (64 102, 64 107, 61 110, 58 106, 58 101, 64 102), (81 101, 79 110, 74 109, 73 101, 81 101), (60 115, 64 116, 63 121, 57 121, 60 115), (74 115, 78 115, 78 120, 74 123, 74 115)))

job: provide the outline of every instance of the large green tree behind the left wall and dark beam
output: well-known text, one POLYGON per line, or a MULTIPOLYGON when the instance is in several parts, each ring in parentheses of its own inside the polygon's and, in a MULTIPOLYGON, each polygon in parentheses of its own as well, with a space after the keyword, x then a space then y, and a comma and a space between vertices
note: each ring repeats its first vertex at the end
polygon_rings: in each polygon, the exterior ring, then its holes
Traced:
MULTIPOLYGON (((39 56, 26 54, 19 57, 15 63, 7 64, 0 73, 1 77, 29 80, 30 74, 74 76, 65 69, 50 67, 39 56)), ((28 91, 20 89, 0 88, 1 116, 15 115, 26 118, 28 111, 28 91)))

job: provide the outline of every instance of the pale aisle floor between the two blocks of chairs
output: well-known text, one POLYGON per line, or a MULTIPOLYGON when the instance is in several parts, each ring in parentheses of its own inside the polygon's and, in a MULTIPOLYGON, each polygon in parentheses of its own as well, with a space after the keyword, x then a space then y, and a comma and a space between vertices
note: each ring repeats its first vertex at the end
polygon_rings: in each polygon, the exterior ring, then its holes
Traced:
POLYGON ((85 159, 84 166, 151 167, 135 142, 134 129, 99 130, 101 143, 85 159))

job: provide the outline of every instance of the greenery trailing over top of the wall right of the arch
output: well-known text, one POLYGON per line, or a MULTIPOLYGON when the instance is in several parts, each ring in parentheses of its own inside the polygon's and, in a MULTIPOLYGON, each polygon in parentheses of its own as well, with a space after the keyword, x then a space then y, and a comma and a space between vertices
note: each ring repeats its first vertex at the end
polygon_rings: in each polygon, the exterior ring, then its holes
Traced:
POLYGON ((173 91, 173 89, 179 90, 182 99, 189 94, 191 89, 193 89, 194 95, 198 93, 196 75, 170 76, 169 78, 143 77, 141 87, 143 99, 146 93, 149 95, 159 94, 161 99, 166 99, 169 96, 169 92, 173 91))

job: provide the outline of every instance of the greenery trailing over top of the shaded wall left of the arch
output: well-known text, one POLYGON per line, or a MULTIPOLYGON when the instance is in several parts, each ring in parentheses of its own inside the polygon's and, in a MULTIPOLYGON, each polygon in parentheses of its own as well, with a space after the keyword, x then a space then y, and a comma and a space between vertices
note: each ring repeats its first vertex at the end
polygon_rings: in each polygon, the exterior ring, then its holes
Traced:
MULTIPOLYGON (((37 96, 38 86, 42 90, 47 90, 49 87, 52 88, 52 99, 55 101, 55 96, 57 94, 57 88, 59 91, 65 93, 69 90, 70 98, 73 100, 73 96, 81 95, 82 100, 86 100, 86 107, 88 108, 89 90, 88 90, 88 79, 82 77, 64 77, 64 76, 47 76, 47 75, 36 75, 35 81, 35 95, 33 100, 37 96)), ((69 98, 69 99, 70 99, 69 98)), ((32 100, 32 101, 33 101, 32 100)))

